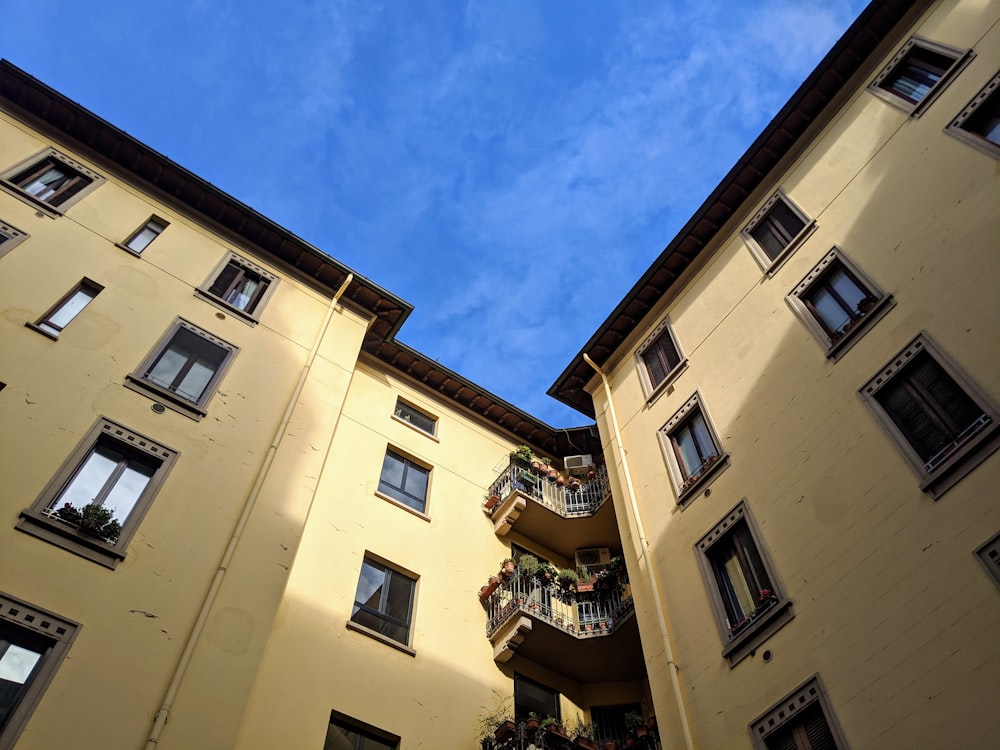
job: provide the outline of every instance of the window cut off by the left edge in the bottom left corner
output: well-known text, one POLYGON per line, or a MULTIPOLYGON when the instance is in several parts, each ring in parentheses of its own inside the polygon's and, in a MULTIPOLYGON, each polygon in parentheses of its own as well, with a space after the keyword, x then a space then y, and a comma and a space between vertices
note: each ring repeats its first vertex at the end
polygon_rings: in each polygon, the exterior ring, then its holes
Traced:
POLYGON ((79 627, 0 593, 0 747, 14 746, 79 627))

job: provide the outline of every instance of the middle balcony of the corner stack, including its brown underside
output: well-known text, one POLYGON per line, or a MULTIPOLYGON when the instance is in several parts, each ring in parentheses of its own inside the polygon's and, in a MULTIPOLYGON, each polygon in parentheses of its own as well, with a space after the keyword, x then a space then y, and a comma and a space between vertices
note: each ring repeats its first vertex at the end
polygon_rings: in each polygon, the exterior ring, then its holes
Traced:
POLYGON ((582 682, 645 675, 628 584, 576 594, 518 572, 481 601, 497 662, 516 654, 582 682))

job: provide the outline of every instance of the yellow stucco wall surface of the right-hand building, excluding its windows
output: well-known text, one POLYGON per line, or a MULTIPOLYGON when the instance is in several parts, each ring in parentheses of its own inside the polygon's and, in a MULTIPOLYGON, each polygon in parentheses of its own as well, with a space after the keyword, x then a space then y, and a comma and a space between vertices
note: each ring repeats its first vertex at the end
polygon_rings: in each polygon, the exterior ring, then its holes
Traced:
MULTIPOLYGON (((1000 66, 998 18, 996 2, 956 0, 921 19, 912 33, 972 48, 976 57, 919 118, 857 91, 761 197, 781 187, 816 220, 816 231, 768 278, 738 234, 751 209, 611 367, 700 747, 749 748, 747 724, 813 673, 855 750, 1000 742, 990 711, 1000 677, 1000 600, 973 555, 1000 529, 993 489, 1000 455, 934 501, 857 393, 925 331, 1000 403, 997 161, 942 132, 1000 66), (785 301, 835 244, 896 301, 837 362, 785 301), (664 314, 689 366, 647 404, 634 353, 664 314), (710 496, 682 510, 656 435, 696 390, 731 465, 710 496), (770 663, 758 654, 731 669, 693 545, 742 498, 795 618, 766 641, 770 663)), ((612 461, 607 400, 599 381, 591 389, 612 461)), ((624 493, 616 495, 621 506, 624 493)), ((630 564, 636 544, 625 544, 630 564)), ((675 698, 644 578, 633 575, 633 587, 663 729, 675 698)), ((667 741, 681 741, 675 712, 667 741)))

